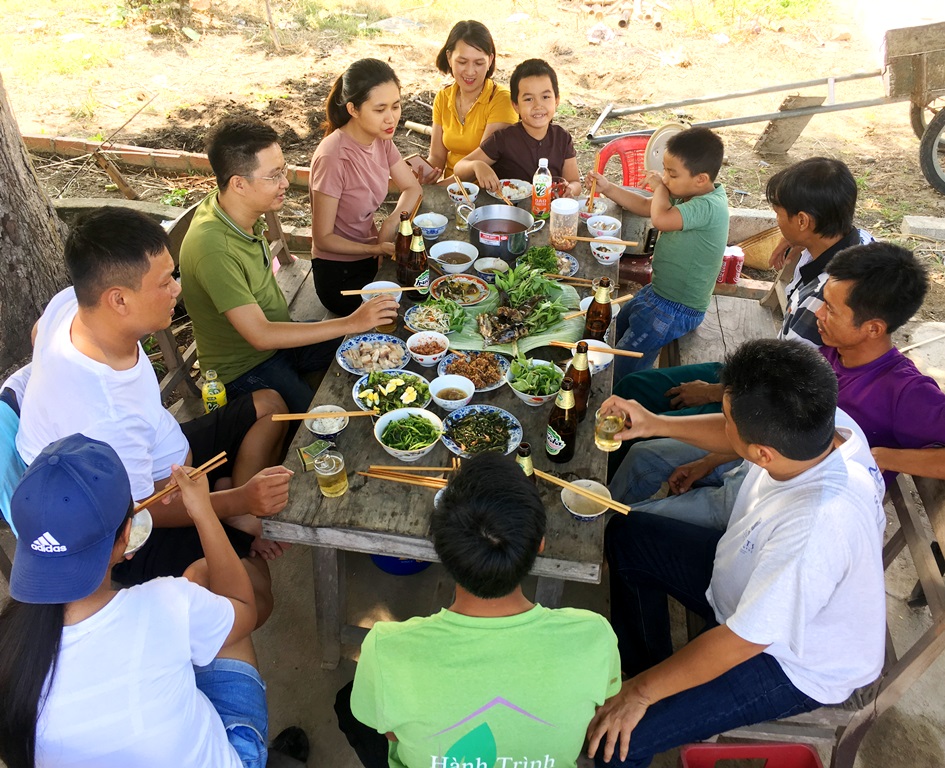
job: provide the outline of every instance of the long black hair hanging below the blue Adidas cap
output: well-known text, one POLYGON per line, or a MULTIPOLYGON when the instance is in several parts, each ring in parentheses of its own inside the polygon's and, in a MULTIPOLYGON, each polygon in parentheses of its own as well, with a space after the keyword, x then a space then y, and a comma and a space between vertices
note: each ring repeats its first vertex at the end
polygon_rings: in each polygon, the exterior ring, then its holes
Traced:
MULTIPOLYGON (((134 512, 115 533, 117 542, 134 512)), ((66 606, 7 599, 0 612, 0 759, 7 768, 35 768, 36 723, 52 687, 66 606)))

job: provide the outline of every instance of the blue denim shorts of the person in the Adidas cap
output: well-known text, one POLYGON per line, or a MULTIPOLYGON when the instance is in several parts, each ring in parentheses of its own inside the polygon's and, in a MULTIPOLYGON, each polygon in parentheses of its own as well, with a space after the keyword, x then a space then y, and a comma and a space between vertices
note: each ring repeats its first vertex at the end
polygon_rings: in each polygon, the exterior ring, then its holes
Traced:
POLYGON ((194 667, 197 688, 220 715, 226 737, 245 768, 265 768, 269 743, 266 684, 251 664, 214 659, 194 667))

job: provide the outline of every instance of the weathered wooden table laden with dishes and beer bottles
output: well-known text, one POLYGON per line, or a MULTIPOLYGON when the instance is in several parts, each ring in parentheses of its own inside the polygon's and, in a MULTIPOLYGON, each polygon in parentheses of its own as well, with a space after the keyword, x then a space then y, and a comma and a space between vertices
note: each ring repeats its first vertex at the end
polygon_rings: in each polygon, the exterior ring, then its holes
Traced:
MULTIPOLYGON (((444 212, 450 218, 448 229, 441 240, 467 239, 465 232, 457 232, 453 228, 452 204, 445 190, 425 188, 424 193, 422 210, 444 212)), ((493 202, 488 195, 480 193, 477 205, 493 202)), ((533 235, 530 244, 547 244, 547 229, 546 226, 533 235)), ((579 276, 607 276, 616 282, 617 267, 599 265, 586 243, 578 243, 572 254, 580 264, 579 276)), ((386 271, 393 273, 390 262, 385 264, 379 277, 387 277, 383 274, 386 271)), ((587 294, 589 289, 580 289, 579 293, 587 294)), ((410 304, 403 301, 401 306, 407 308, 410 304)), ((400 322, 397 333, 406 338, 410 331, 400 322)), ((529 353, 529 356, 560 360, 567 354, 567 350, 543 347, 529 353)), ((413 361, 406 367, 428 380, 436 376, 435 368, 422 368, 413 361)), ((613 388, 612 370, 611 366, 593 379, 588 418, 579 425, 579 447, 574 459, 567 464, 553 464, 545 454, 545 429, 550 404, 529 407, 516 398, 508 386, 477 394, 472 402, 489 403, 515 414, 522 423, 523 439, 532 445, 532 456, 537 468, 567 480, 592 478, 605 482, 607 454, 594 447, 593 414, 613 388)), ((354 407, 351 388, 357 378, 347 373, 337 362, 332 363, 313 404, 333 403, 345 408, 354 407)), ((435 404, 431 403, 429 407, 440 411, 435 404)), ((285 462, 287 467, 295 471, 289 490, 289 504, 280 514, 263 520, 263 530, 267 538, 308 544, 315 548, 315 612, 322 666, 334 669, 341 657, 341 645, 358 645, 366 633, 365 629, 346 623, 344 553, 365 552, 436 561, 437 556, 430 541, 434 492, 356 474, 357 470, 366 470, 370 464, 398 463, 374 439, 372 420, 363 418, 351 419, 337 440, 338 449, 345 457, 350 490, 339 498, 326 499, 318 490, 314 473, 302 471, 295 452, 295 448, 311 441, 308 430, 304 426, 300 427, 285 462)), ((440 443, 418 463, 445 466, 451 457, 452 454, 440 443)), ((555 607, 560 602, 564 581, 600 582, 604 518, 578 522, 561 504, 559 488, 541 480, 538 488, 548 510, 548 523, 545 550, 532 569, 532 573, 538 576, 535 599, 543 605, 555 607)))

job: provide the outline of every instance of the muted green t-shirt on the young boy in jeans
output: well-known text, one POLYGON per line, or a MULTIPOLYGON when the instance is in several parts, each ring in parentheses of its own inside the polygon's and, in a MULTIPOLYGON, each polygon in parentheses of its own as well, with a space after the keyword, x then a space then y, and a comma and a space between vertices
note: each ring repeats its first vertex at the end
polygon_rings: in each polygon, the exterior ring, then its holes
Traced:
POLYGON ((705 312, 728 243, 728 195, 716 184, 705 195, 673 201, 683 228, 661 232, 653 251, 653 290, 669 301, 705 312))

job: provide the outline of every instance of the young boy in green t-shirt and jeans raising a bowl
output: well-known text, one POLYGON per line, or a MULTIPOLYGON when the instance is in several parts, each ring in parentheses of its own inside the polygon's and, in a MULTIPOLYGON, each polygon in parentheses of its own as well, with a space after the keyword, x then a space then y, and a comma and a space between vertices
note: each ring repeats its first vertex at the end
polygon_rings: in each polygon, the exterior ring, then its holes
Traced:
POLYGON ((643 357, 618 357, 614 381, 651 368, 664 345, 698 328, 705 316, 728 242, 728 196, 715 182, 724 154, 722 140, 708 128, 680 131, 666 142, 663 173, 646 176, 652 197, 589 174, 602 195, 660 231, 653 282, 617 315, 617 348, 643 357))

